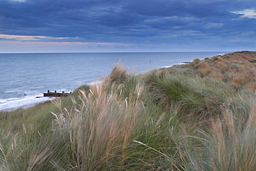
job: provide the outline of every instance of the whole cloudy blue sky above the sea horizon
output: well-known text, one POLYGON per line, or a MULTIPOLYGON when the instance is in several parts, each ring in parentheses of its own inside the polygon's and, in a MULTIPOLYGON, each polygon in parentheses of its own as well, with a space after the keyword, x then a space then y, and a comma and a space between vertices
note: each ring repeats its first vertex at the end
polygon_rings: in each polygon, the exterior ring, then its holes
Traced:
POLYGON ((0 53, 256 50, 255 0, 0 0, 0 53))

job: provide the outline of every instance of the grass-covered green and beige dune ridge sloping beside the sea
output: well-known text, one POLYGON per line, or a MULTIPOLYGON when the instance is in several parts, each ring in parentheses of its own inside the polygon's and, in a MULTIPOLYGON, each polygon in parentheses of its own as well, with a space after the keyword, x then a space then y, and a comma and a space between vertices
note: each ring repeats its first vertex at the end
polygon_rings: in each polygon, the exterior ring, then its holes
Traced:
POLYGON ((256 53, 135 75, 0 112, 0 170, 256 170, 256 53))

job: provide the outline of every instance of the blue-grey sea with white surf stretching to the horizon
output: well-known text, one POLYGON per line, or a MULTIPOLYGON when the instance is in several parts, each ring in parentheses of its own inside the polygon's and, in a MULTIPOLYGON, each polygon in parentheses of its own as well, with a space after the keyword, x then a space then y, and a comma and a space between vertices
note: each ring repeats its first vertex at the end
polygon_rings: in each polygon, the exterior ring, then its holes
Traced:
POLYGON ((43 93, 73 92, 107 76, 116 63, 141 74, 227 52, 95 52, 0 54, 0 110, 53 99, 43 93))

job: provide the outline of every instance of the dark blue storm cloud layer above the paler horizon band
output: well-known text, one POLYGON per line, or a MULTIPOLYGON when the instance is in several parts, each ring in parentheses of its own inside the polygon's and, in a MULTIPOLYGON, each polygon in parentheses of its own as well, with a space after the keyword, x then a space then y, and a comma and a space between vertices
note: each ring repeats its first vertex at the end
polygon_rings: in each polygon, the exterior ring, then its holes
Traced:
POLYGON ((255 37, 256 17, 243 14, 255 8, 253 0, 1 0, 0 34, 119 43, 255 37))

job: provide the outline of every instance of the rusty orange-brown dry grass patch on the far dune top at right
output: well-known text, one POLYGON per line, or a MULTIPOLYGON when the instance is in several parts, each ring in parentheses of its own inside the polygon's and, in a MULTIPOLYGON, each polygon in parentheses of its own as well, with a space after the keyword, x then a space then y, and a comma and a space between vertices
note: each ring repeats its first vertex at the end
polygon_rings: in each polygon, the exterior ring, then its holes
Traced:
POLYGON ((211 59, 194 59, 188 64, 201 77, 235 83, 238 88, 256 91, 256 52, 234 52, 211 59))

